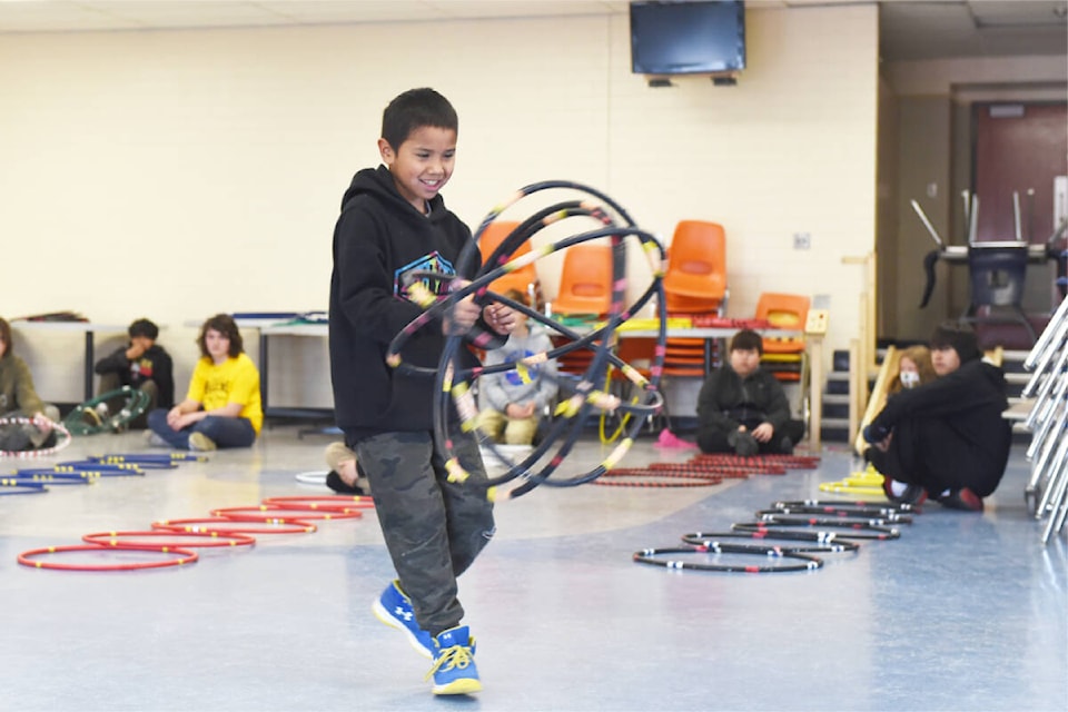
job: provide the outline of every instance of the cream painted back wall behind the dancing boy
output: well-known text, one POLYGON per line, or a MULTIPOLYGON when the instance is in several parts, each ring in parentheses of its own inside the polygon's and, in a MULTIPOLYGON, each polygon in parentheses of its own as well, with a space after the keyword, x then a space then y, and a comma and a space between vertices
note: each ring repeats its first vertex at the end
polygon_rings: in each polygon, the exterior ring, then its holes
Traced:
MULTIPOLYGON (((761 291, 825 295, 829 346, 844 348, 862 275, 841 258, 873 245, 877 12, 746 20, 734 88, 647 87, 625 16, 0 36, 0 314, 150 316, 182 389, 190 320, 326 307, 342 191, 377 162, 386 102, 433 86, 461 115, 445 196, 472 225, 546 179, 592 185, 662 235, 720 221, 730 314, 752 315, 761 291)), ((552 295, 556 266, 540 270, 552 295)), ((18 339, 42 396, 80 399, 79 337, 18 339)), ((325 365, 322 345, 277 353, 273 403, 328 406, 326 373, 306 367, 325 365), (286 373, 283 355, 306 349, 286 373)))

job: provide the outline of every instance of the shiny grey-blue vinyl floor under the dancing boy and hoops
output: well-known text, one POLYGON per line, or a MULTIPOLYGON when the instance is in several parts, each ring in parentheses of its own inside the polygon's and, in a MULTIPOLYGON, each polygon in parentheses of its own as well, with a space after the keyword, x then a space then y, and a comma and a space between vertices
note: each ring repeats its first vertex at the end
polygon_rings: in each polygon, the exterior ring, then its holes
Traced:
MULTIPOLYGON (((180 567, 17 563, 92 532, 328 494, 296 479, 322 472, 328 442, 276 427, 251 452, 0 496, 0 710, 1068 709, 1068 544, 1040 543, 1019 446, 985 514, 928 506, 900 538, 824 555, 817 571, 672 571, 632 554, 728 531, 779 500, 856 498, 819 490, 862 469, 841 446, 784 476, 543 486, 500 502, 496 538, 461 580, 485 688, 471 698, 435 699, 426 661, 370 614, 393 576, 373 513, 200 550, 180 567)), ((98 435, 44 463, 144 449, 139 434, 98 435)), ((607 452, 591 436, 562 469, 607 452)), ((640 441, 623 465, 691 454, 640 441)))

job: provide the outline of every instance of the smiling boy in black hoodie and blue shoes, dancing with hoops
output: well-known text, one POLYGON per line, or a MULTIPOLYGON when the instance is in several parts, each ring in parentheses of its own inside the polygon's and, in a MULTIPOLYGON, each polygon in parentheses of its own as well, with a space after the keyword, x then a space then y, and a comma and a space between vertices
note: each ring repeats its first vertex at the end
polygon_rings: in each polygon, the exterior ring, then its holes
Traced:
MULTIPOLYGON (((455 453, 471 476, 449 482, 444 453, 434 443, 433 379, 395 373, 385 354, 394 336, 423 310, 406 298, 408 273, 463 277, 477 267, 457 264, 471 230, 439 195, 453 175, 457 126, 455 109, 433 89, 412 89, 389 102, 378 139, 383 165, 357 172, 342 199, 330 278, 337 425, 367 473, 397 571, 373 610, 433 659, 435 694, 482 689, 474 639, 461 625, 456 577, 493 536, 493 505, 474 435, 456 428, 455 453)), ((446 294, 452 280, 423 281, 446 294)), ((515 315, 503 305, 483 312, 468 296, 443 323, 417 333, 402 358, 434 367, 445 335, 476 322, 507 335, 515 315)), ((469 350, 461 350, 464 367, 477 365, 469 350)))

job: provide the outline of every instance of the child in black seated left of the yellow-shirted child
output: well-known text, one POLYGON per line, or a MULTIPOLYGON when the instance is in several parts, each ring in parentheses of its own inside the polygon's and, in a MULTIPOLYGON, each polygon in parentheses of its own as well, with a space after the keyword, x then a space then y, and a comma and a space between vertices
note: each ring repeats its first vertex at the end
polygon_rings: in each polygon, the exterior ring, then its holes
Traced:
POLYGON ((170 354, 156 343, 159 327, 148 319, 137 319, 127 333, 130 343, 117 348, 97 362, 93 370, 100 376, 97 395, 129 386, 148 394, 145 413, 129 423, 129 427, 148 427, 148 414, 156 408, 175 405, 174 363, 170 354))

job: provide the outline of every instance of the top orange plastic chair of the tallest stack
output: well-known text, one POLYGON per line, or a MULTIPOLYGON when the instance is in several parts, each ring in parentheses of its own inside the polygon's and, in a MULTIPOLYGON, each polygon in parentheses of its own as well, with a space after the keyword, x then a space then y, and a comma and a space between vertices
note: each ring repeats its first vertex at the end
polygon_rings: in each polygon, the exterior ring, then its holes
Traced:
POLYGON ((723 226, 681 220, 675 226, 664 271, 668 310, 700 314, 726 310, 726 235, 723 226))

